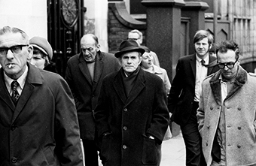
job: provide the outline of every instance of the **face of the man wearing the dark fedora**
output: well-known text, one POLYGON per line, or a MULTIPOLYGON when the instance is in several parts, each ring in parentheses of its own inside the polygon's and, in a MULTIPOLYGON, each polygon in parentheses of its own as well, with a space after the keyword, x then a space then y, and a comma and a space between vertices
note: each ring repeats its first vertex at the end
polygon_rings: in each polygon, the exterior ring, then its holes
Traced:
POLYGON ((120 57, 120 63, 127 75, 130 75, 133 73, 133 71, 136 71, 141 61, 142 57, 139 57, 139 53, 136 51, 124 53, 123 56, 120 57))

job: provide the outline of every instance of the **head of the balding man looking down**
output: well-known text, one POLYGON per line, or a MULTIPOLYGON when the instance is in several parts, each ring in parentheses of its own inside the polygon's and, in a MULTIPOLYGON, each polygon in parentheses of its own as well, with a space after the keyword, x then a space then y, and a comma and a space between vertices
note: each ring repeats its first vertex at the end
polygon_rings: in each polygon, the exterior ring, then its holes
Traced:
POLYGON ((81 52, 87 62, 93 62, 97 52, 99 51, 99 44, 93 40, 91 36, 86 36, 81 40, 81 52))

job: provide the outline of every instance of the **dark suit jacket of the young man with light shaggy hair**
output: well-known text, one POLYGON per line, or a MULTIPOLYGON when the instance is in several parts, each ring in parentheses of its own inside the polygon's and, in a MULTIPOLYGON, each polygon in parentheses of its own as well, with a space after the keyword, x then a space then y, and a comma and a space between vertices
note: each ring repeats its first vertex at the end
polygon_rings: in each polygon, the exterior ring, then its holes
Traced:
MULTIPOLYGON (((209 56, 209 63, 215 61, 209 56)), ((172 121, 178 125, 186 124, 193 108, 196 82, 196 54, 178 59, 176 74, 169 92, 168 108, 172 113, 172 121)), ((218 66, 208 68, 207 75, 218 71, 218 66)))

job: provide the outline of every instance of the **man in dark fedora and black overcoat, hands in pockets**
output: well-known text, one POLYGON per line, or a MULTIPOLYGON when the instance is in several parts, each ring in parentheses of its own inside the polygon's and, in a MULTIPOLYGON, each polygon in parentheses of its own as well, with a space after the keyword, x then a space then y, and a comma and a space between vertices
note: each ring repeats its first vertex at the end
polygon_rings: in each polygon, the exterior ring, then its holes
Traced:
POLYGON ((102 82, 94 116, 104 165, 160 164, 169 112, 163 80, 139 67, 144 52, 123 41, 114 54, 122 68, 102 82))

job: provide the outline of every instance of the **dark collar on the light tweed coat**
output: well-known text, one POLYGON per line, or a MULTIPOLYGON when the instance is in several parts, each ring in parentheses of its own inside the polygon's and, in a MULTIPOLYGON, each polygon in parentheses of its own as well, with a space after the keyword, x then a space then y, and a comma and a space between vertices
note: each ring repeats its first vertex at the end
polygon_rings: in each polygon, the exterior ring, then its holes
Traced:
MULTIPOLYGON (((236 92, 246 83, 247 81, 247 72, 241 67, 238 67, 237 76, 234 80, 233 87, 230 89, 230 92, 227 94, 227 98, 231 98, 236 92)), ((221 104, 221 80, 219 79, 221 71, 217 71, 209 80, 213 96, 215 101, 218 104, 221 104)), ((226 98, 226 99, 227 99, 226 98)))

